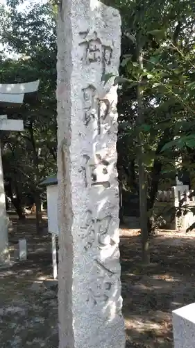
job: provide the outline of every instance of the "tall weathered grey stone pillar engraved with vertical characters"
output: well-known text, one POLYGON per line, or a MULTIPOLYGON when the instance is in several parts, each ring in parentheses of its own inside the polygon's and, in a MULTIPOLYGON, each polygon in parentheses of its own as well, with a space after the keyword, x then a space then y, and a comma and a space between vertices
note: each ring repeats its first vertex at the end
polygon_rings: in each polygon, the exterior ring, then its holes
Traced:
POLYGON ((119 264, 119 12, 62 0, 58 17, 60 348, 124 348, 119 264))

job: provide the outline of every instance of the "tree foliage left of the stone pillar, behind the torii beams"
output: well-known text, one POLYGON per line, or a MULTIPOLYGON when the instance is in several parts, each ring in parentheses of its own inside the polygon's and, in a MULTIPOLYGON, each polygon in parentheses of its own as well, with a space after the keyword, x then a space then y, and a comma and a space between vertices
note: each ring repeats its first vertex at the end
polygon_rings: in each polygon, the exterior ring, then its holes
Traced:
MULTIPOLYGON (((42 195, 40 182, 56 173, 56 14, 51 3, 19 13, 18 1, 1 17, 0 83, 40 79, 36 100, 24 100, 9 117, 24 120, 24 132, 1 135, 8 195, 20 193, 22 200, 42 195), (9 52, 17 58, 10 58, 9 52), (11 187, 11 189, 10 189, 11 187)), ((1 114, 8 113, 1 109, 1 114)))

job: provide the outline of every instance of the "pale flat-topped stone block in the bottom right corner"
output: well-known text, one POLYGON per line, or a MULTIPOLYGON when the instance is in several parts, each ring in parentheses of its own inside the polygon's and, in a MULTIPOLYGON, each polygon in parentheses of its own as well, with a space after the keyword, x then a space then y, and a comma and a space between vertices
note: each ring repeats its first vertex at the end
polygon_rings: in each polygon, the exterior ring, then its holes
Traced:
POLYGON ((195 347, 195 303, 173 310, 174 348, 195 347))

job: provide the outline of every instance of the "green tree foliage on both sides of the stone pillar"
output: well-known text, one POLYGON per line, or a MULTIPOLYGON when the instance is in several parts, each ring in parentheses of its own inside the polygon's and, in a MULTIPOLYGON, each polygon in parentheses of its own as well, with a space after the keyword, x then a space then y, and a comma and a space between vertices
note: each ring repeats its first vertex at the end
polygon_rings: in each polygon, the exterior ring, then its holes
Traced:
MULTIPOLYGON (((9 12, 1 8, 1 42, 7 53, 17 54, 17 60, 8 58, 5 50, 0 52, 0 82, 41 81, 38 100, 12 114, 24 120, 24 133, 6 134, 2 139, 6 166, 10 146, 14 151, 15 162, 8 173, 13 177, 16 171, 17 185, 26 192, 32 186, 38 188, 42 177, 56 170, 57 5, 51 0, 19 13, 17 5, 22 1, 7 2, 9 12), (24 152, 26 159, 21 156, 24 152)), ((118 8, 122 19, 119 77, 102 77, 105 84, 112 78, 120 85, 119 179, 126 189, 138 191, 137 152, 142 141, 151 211, 160 184, 176 174, 193 176, 194 172, 194 0, 105 3, 118 8), (138 51, 143 53, 143 67, 138 51), (142 94, 142 125, 137 122, 137 86, 142 94), (183 164, 176 168, 180 157, 183 164)))

